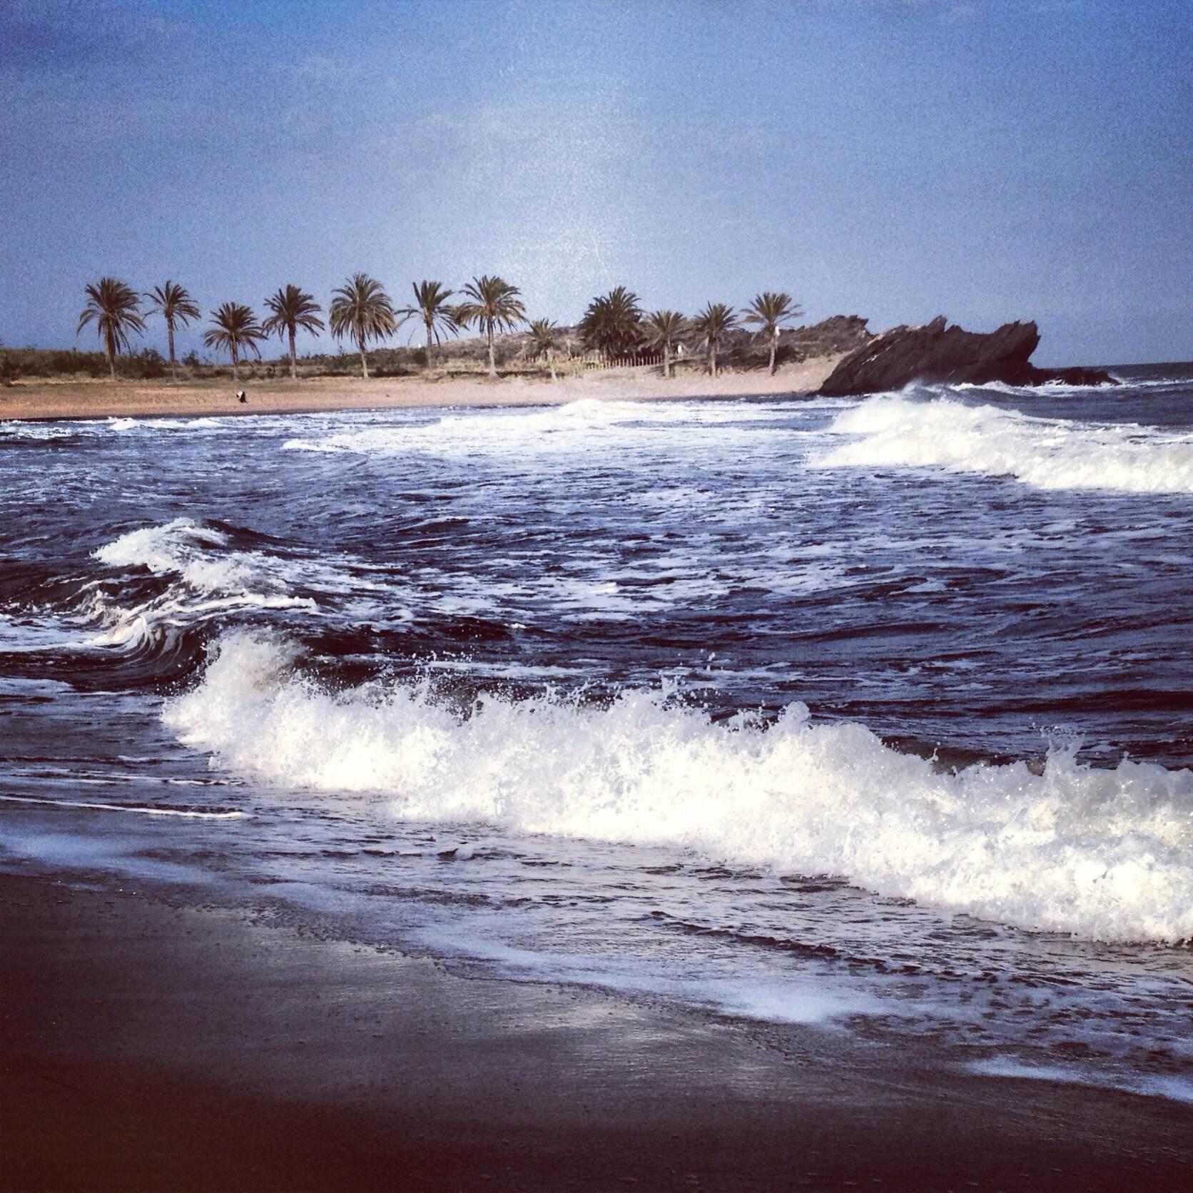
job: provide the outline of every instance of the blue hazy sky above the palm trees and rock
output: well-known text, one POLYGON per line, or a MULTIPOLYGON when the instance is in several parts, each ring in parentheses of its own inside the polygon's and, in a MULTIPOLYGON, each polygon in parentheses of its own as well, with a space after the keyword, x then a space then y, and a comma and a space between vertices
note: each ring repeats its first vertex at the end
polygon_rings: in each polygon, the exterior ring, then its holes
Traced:
POLYGON ((1191 63, 1193 0, 4 0, 0 339, 365 271, 1189 359, 1191 63))

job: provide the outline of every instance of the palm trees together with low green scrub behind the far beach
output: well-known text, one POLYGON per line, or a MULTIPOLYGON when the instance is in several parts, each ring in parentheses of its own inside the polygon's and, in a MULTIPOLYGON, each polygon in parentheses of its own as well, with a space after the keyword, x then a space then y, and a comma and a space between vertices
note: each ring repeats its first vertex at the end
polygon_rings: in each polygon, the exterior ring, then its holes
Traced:
MULTIPOLYGON (((277 367, 270 364, 265 369, 266 378, 284 371, 289 371, 291 381, 344 375, 350 357, 342 353, 308 352, 299 366, 297 334, 319 336, 327 329, 354 350, 359 376, 365 379, 371 373, 444 376, 480 367, 495 377, 499 366, 505 372, 542 370, 551 379, 561 369, 574 373, 607 367, 656 369, 673 378, 680 366, 688 372, 700 366, 700 350, 704 367, 716 376, 725 364, 736 370, 760 367, 758 353, 765 346, 766 367, 774 375, 784 361, 851 350, 869 334, 864 321, 855 316, 792 329, 803 311, 784 291, 762 291, 740 311, 710 302, 696 316, 686 317, 670 308, 648 313, 637 293, 618 285, 593 297, 576 326, 561 327, 554 320, 531 320, 520 289, 495 274, 474 277, 458 291, 432 279, 412 282, 410 288, 413 302, 396 308, 381 282, 366 273, 353 274, 333 292, 324 323, 323 308, 315 296, 286 284, 264 299, 264 321, 249 307, 224 303, 212 313, 212 326, 204 333, 203 344, 225 354, 224 360, 230 359, 236 381, 252 358, 261 360, 261 341, 274 335, 285 352, 277 359, 277 367), (385 346, 408 321, 421 324, 424 346, 385 346), (480 340, 460 338, 466 328, 475 328, 480 340), (449 344, 449 338, 455 342, 449 344)), ((124 282, 109 277, 88 285, 86 293, 88 302, 76 334, 95 323, 110 377, 162 375, 165 361, 155 350, 134 354, 130 347, 130 338, 143 334, 146 316, 156 314, 166 322, 172 377, 177 379, 180 369, 192 379, 220 376, 220 365, 200 360, 193 351, 183 361, 175 357, 175 330, 200 317, 198 304, 177 282, 167 280, 138 296, 124 282)), ((98 366, 93 358, 98 356, 10 351, 5 377, 11 382, 18 376, 94 376, 98 366)), ((256 366, 251 369, 254 378, 261 376, 256 366)))

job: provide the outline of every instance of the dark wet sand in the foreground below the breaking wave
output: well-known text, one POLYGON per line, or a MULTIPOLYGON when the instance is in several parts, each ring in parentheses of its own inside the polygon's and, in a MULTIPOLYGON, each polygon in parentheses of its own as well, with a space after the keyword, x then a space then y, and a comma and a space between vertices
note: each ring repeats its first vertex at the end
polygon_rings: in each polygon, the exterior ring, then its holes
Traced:
POLYGON ((1187 1189, 1193 1108, 0 877, 5 1189, 1187 1189))

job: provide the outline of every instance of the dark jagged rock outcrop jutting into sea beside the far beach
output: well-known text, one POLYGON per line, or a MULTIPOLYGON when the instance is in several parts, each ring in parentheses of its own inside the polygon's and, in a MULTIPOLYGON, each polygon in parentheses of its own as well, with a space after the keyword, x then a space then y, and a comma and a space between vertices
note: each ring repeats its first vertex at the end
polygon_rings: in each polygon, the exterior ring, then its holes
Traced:
POLYGON ((914 381, 969 382, 985 385, 1043 385, 1063 381, 1070 385, 1114 384, 1100 369, 1037 369, 1031 354, 1040 342, 1034 323, 1005 323, 996 332, 966 332, 944 315, 922 327, 892 327, 851 352, 833 370, 820 392, 851 397, 902 389, 914 381))

